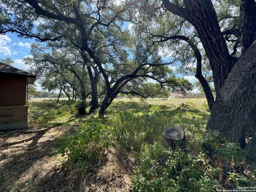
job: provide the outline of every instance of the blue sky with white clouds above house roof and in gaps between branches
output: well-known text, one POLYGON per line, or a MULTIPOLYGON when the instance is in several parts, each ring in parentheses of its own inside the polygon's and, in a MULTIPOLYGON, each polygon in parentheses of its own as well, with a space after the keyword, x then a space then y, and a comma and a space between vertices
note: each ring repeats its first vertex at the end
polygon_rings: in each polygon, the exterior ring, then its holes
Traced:
MULTIPOLYGON (((34 39, 19 38, 17 35, 12 33, 0 35, 0 59, 11 58, 14 61, 13 67, 27 70, 28 66, 25 65, 22 59, 29 56, 31 49, 30 44, 33 42, 35 42, 34 39)), ((159 52, 159 54, 161 54, 164 58, 168 57, 168 55, 164 54, 165 51, 166 50, 163 50, 162 53, 159 52)), ((177 66, 170 66, 170 68, 175 71, 177 66)), ((185 76, 185 78, 192 83, 195 82, 194 76, 185 76)), ((42 87, 38 83, 36 83, 36 86, 37 90, 42 90, 42 87)), ((193 91, 196 92, 197 89, 193 91)))

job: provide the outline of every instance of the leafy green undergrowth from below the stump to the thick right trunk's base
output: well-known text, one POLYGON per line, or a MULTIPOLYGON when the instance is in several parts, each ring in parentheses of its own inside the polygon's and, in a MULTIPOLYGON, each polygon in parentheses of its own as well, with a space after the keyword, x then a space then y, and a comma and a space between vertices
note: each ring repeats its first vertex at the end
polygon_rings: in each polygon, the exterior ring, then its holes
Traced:
POLYGON ((221 189, 220 183, 224 182, 230 188, 255 185, 243 175, 244 155, 239 145, 221 138, 218 132, 192 125, 187 128, 186 136, 189 153, 171 151, 161 142, 142 145, 141 165, 132 177, 134 191, 208 192, 221 189), (211 145, 211 154, 205 143, 211 145))

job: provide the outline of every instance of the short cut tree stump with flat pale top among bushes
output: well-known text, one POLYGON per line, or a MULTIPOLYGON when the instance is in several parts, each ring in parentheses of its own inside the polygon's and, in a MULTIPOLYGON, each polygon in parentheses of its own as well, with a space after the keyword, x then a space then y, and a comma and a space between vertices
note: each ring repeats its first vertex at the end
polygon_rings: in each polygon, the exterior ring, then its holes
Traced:
POLYGON ((167 127, 163 132, 163 139, 172 150, 180 148, 186 149, 185 130, 180 126, 167 127))

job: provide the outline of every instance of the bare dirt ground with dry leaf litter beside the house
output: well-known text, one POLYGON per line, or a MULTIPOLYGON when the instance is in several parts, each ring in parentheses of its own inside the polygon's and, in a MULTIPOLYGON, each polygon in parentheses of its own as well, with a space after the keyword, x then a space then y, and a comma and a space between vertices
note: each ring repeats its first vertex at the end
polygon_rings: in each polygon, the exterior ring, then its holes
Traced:
POLYGON ((0 191, 130 191, 132 160, 114 149, 93 170, 61 161, 52 149, 72 126, 0 132, 0 191))

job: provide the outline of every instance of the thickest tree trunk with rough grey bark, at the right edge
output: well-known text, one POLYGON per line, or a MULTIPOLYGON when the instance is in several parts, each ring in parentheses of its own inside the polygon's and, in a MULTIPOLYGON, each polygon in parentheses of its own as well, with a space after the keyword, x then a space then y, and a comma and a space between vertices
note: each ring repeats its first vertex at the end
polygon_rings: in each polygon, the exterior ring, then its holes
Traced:
MULTIPOLYGON (((255 111, 256 101, 256 41, 236 62, 231 70, 221 95, 214 103, 207 128, 218 130, 232 142, 239 142, 245 146, 246 135, 254 135, 256 132, 255 111)), ((253 140, 245 149, 247 156, 256 161, 256 142, 253 140), (254 148, 254 149, 253 149, 254 148)))

